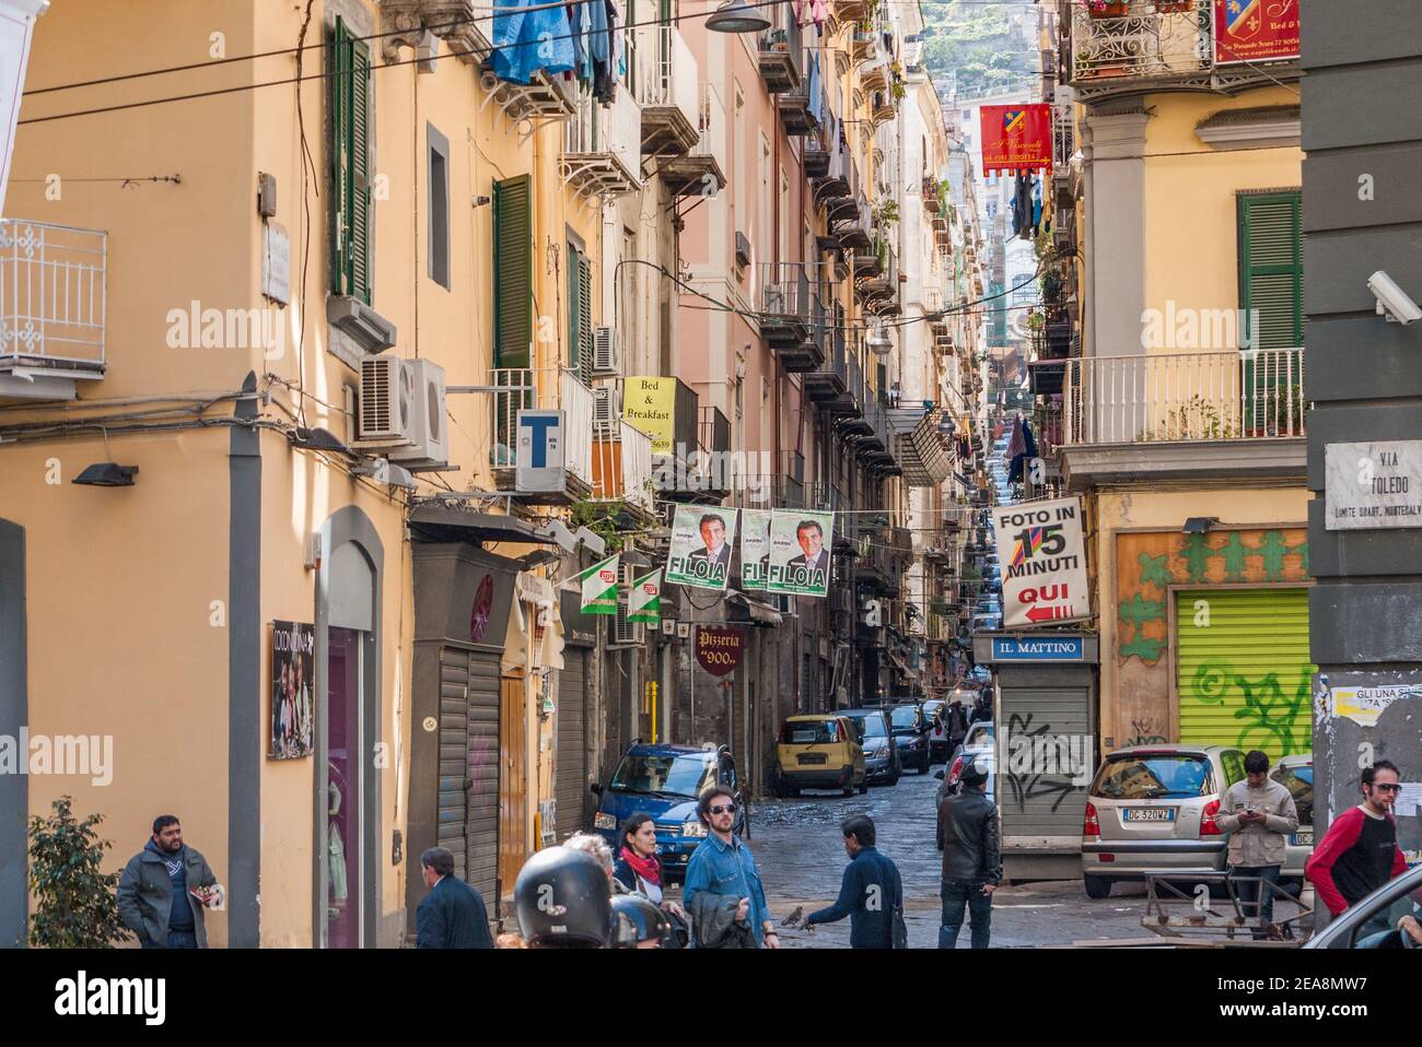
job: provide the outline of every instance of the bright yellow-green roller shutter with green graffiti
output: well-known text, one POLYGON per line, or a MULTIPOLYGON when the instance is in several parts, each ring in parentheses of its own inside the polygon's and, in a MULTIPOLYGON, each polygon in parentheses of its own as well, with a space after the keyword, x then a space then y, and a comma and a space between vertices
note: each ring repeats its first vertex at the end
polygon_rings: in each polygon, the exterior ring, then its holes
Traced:
POLYGON ((1176 592, 1182 743, 1313 750, 1308 590, 1176 592))

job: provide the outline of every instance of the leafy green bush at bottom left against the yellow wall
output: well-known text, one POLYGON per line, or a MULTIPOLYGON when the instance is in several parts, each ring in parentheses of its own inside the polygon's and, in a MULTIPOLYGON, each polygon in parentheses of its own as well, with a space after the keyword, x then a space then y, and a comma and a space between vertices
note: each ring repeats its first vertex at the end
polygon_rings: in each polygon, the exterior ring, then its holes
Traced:
POLYGON ((30 945, 40 949, 108 949, 127 936, 114 892, 118 872, 102 872, 112 847, 94 827, 102 814, 74 817, 74 800, 61 796, 53 813, 30 818, 30 892, 36 899, 30 945))

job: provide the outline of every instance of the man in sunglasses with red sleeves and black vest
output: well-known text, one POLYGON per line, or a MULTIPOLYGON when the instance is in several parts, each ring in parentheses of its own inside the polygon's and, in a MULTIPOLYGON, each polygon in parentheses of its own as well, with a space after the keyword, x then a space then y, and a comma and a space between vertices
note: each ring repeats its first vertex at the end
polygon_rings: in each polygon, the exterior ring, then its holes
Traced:
POLYGON ((1304 875, 1334 916, 1406 872, 1392 820, 1398 781, 1398 769, 1388 760, 1364 769, 1362 803, 1334 818, 1304 865, 1304 875))

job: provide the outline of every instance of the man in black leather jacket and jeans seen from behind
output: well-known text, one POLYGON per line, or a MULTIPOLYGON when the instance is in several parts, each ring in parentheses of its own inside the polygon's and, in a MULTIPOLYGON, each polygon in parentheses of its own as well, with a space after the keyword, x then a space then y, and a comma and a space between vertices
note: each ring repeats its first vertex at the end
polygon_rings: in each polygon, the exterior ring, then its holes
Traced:
POLYGON ((963 909, 968 911, 973 948, 987 949, 993 922, 993 891, 1003 879, 997 804, 987 798, 987 766, 963 769, 963 790, 939 804, 939 838, 943 841, 943 925, 939 948, 957 948, 963 909))

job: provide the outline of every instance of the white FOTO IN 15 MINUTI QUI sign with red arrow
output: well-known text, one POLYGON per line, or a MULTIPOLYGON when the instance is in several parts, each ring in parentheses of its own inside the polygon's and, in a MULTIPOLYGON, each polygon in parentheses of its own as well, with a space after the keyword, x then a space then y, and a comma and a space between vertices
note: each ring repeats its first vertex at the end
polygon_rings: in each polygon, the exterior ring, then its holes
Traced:
POLYGON ((1091 618, 1081 514, 1081 499, 993 509, 1004 629, 1091 618))

